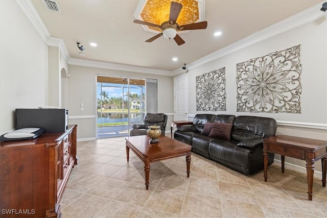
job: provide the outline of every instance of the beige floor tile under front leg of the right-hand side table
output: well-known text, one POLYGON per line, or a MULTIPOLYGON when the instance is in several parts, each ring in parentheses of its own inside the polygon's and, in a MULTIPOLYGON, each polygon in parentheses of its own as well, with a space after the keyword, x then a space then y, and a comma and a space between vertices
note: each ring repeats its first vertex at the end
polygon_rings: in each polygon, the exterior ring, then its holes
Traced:
POLYGON ((287 192, 299 207, 307 214, 327 217, 327 198, 322 196, 312 196, 312 201, 308 200, 307 193, 287 192))

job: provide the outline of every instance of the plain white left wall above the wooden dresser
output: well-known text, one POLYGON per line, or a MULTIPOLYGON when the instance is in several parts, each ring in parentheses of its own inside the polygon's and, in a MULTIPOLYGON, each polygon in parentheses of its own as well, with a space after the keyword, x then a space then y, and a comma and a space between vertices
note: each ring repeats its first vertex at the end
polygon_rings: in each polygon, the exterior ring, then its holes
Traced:
POLYGON ((0 132, 15 108, 48 105, 48 46, 15 1, 0 1, 0 132))

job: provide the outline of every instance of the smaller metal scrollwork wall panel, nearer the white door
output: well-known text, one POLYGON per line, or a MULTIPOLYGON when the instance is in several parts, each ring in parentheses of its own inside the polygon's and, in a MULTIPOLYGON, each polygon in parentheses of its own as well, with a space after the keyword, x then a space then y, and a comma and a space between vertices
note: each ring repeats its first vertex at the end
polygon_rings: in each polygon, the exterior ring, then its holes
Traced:
POLYGON ((226 110, 225 67, 196 77, 196 110, 226 110))

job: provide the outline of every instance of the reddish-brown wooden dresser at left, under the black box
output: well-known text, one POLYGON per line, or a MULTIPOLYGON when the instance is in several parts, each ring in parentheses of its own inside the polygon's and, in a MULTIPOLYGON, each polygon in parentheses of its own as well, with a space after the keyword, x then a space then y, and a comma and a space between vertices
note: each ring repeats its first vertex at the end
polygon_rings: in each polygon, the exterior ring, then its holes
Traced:
POLYGON ((60 199, 77 164, 77 125, 33 140, 0 142, 0 217, 60 217, 60 199))

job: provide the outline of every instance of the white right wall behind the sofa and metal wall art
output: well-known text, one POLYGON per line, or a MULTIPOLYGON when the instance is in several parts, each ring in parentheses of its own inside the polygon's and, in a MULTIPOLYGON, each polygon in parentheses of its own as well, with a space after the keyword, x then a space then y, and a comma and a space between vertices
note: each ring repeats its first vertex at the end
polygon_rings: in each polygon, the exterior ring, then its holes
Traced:
MULTIPOLYGON (((223 37, 223 36, 222 36, 223 37)), ((231 53, 209 63, 189 70, 189 114, 213 113, 272 117, 277 121, 327 124, 327 16, 309 22, 285 33, 271 37, 245 49, 231 53), (301 113, 250 113, 237 112, 236 64, 252 58, 282 51, 300 45, 302 64, 300 94, 301 113), (226 111, 196 111, 196 77, 209 71, 225 68, 226 76, 226 111)), ((192 120, 192 115, 190 119, 192 120)), ((326 130, 278 126, 277 134, 293 135, 327 140, 326 130)), ((280 160, 279 155, 275 159, 280 160)), ((286 157, 288 167, 299 169, 305 162, 286 157)), ((305 168, 301 168, 301 171, 305 168)), ((321 164, 316 164, 321 172, 321 164)))

